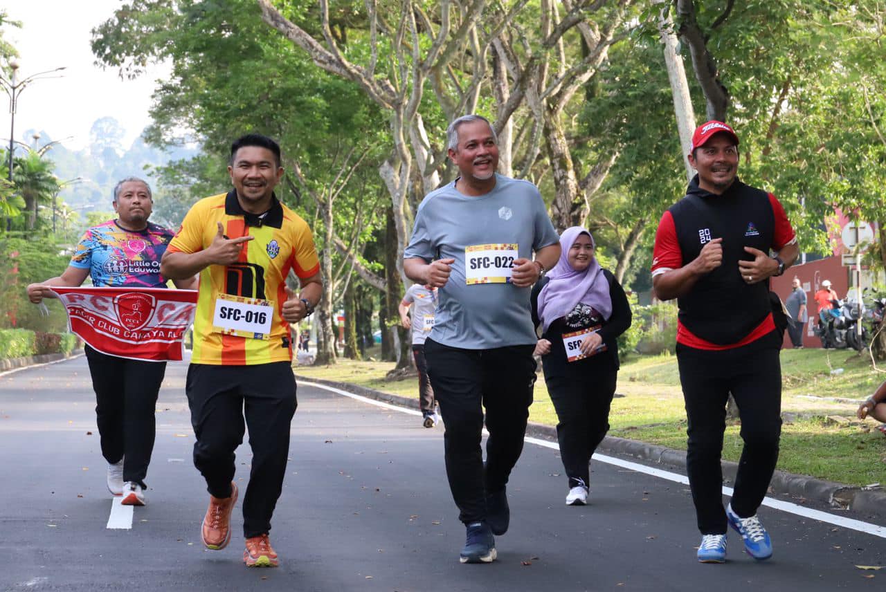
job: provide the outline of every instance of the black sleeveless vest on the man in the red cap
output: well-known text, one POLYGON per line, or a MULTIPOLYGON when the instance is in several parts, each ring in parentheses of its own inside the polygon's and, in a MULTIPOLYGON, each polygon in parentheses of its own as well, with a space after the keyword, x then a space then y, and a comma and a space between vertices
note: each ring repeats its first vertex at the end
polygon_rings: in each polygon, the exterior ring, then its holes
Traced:
POLYGON ((773 244, 775 216, 766 191, 735 179, 723 195, 698 187, 698 176, 687 196, 670 208, 682 265, 698 257, 705 243, 722 238, 723 262, 696 281, 677 299, 680 323, 692 334, 718 345, 740 342, 771 312, 769 282, 748 285, 739 273, 740 260, 754 257, 744 247, 765 253, 773 244))

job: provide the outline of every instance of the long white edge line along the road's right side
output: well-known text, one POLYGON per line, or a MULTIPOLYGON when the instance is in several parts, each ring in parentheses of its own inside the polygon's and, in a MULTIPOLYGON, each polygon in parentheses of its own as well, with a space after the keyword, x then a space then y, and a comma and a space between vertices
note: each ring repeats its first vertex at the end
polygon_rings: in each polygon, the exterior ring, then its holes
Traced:
MULTIPOLYGON (((338 395, 347 396, 352 399, 356 399, 357 401, 362 401, 363 403, 368 403, 372 405, 376 405, 377 407, 384 407, 385 409, 390 409, 392 411, 400 411, 402 413, 408 413, 409 415, 421 415, 421 411, 415 411, 412 409, 404 409, 403 407, 398 407, 397 405, 392 405, 390 403, 384 403, 382 401, 376 401, 375 399, 370 399, 366 396, 354 395, 354 393, 349 393, 346 390, 341 390, 340 388, 327 387, 323 384, 318 384, 316 382, 308 382, 308 381, 299 381, 299 384, 303 384, 306 387, 316 387, 323 388, 324 390, 329 390, 333 393, 337 393, 338 395)), ((540 440, 539 438, 533 438, 532 436, 526 436, 525 442, 529 442, 531 444, 535 444, 536 446, 541 446, 544 448, 549 448, 551 450, 560 450, 559 446, 556 442, 548 442, 547 440, 540 440)), ((603 454, 595 454, 595 461, 600 461, 602 463, 607 463, 608 465, 620 466, 622 468, 629 469, 631 471, 636 471, 637 473, 645 473, 651 475, 653 477, 658 477, 659 479, 665 479, 667 481, 674 481, 677 483, 682 483, 683 485, 688 485, 689 480, 686 475, 681 475, 680 473, 672 473, 671 471, 664 471, 662 469, 657 469, 652 466, 641 465, 640 463, 633 463, 629 460, 623 460, 621 458, 609 457, 603 454)), ((723 493, 727 496, 732 496, 732 488, 727 488, 723 486, 723 493)), ((791 504, 790 502, 785 502, 778 499, 773 499, 772 497, 766 497, 763 500, 763 505, 774 508, 775 510, 786 511, 790 514, 794 514, 796 516, 802 516, 804 518, 818 520, 819 522, 824 522, 826 524, 832 524, 835 527, 843 527, 848 528, 850 530, 858 531, 859 533, 865 534, 873 534, 874 536, 879 536, 881 538, 886 539, 886 527, 881 527, 879 525, 873 524, 871 522, 864 522, 862 520, 856 520, 851 518, 846 518, 844 516, 837 516, 835 514, 831 514, 827 511, 820 510, 812 510, 812 508, 804 508, 798 504, 791 504)))

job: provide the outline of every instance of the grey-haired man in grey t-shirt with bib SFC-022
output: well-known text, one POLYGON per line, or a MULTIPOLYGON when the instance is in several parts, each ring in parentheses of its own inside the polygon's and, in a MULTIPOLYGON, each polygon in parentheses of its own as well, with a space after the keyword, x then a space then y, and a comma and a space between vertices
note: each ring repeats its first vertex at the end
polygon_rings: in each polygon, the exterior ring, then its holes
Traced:
POLYGON ((460 560, 489 563, 493 535, 508 530, 505 486, 532 404, 530 288, 560 258, 560 242, 538 188, 495 173, 487 119, 455 119, 447 140, 461 175, 419 205, 403 267, 411 280, 439 288, 424 355, 446 426, 449 488, 467 528, 460 560))

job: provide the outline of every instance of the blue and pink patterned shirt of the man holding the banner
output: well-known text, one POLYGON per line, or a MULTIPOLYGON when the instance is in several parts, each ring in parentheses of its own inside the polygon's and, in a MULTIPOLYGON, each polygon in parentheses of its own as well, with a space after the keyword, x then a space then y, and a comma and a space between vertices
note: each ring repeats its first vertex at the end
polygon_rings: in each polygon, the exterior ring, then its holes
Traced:
POLYGON ((173 232, 148 222, 141 231, 126 230, 117 220, 91 227, 74 250, 70 265, 89 269, 97 288, 142 286, 166 288, 160 275, 160 258, 167 250, 173 232))

